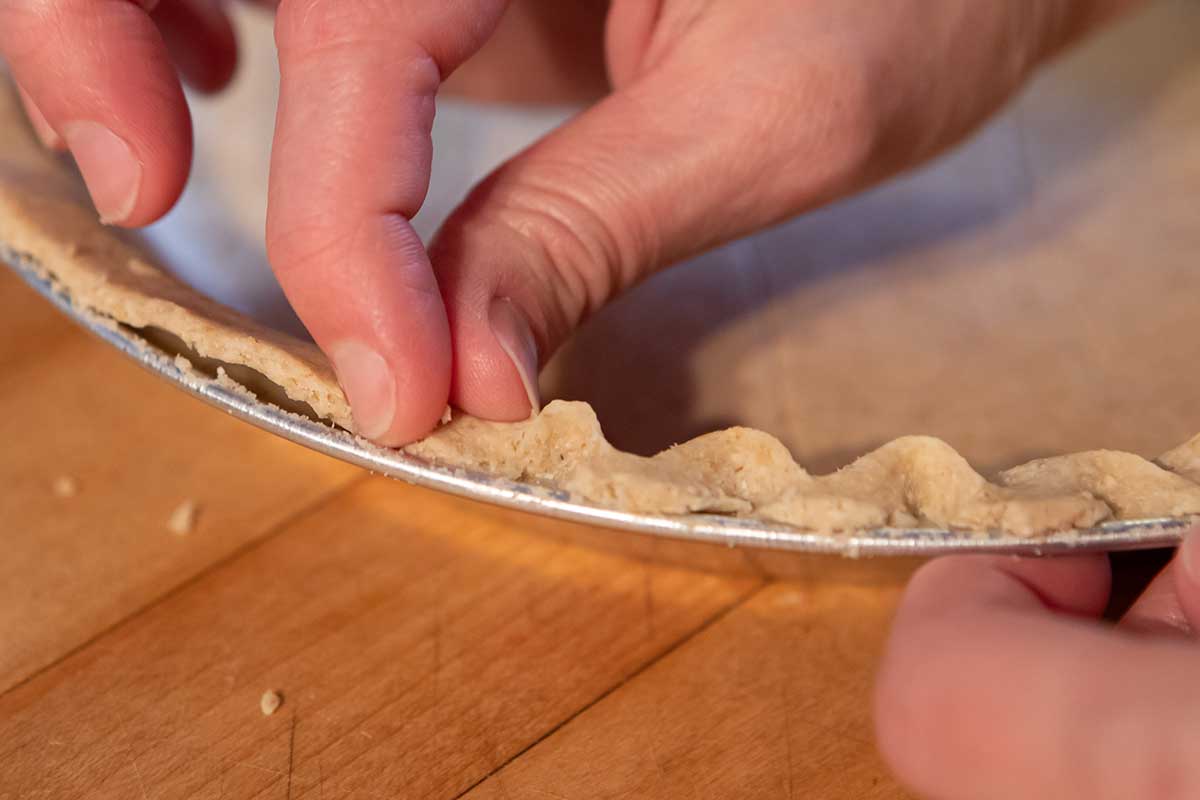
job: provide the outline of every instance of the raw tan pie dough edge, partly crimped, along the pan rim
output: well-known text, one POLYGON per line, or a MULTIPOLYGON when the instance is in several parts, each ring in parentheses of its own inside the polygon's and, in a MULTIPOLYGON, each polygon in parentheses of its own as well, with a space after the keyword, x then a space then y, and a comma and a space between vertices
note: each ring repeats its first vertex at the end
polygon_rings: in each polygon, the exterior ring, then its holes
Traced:
MULTIPOLYGON (((313 414, 353 431, 329 362, 154 266, 96 221, 78 180, 28 133, 11 91, 0 100, 0 242, 30 257, 73 302, 137 329, 174 333, 194 353, 251 367, 313 414)), ((420 458, 547 483, 599 506, 642 513, 756 517, 817 531, 935 525, 1037 535, 1106 519, 1200 513, 1200 437, 1151 463, 1094 451, 984 480, 949 445, 904 437, 824 476, 749 428, 710 433, 654 457, 610 445, 592 408, 556 401, 534 419, 456 415, 406 449, 420 458)))

